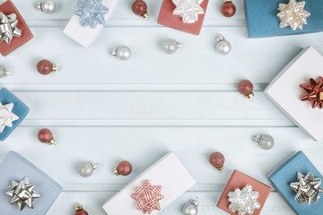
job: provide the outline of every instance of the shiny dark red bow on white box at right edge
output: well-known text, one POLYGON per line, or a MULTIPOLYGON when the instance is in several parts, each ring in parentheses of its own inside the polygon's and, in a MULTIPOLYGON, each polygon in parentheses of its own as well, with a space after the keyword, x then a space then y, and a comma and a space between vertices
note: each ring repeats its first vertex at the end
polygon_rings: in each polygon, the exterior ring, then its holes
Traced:
POLYGON ((323 108, 323 78, 319 77, 316 81, 310 79, 309 83, 302 83, 301 90, 305 94, 301 97, 302 101, 310 101, 311 107, 323 108))

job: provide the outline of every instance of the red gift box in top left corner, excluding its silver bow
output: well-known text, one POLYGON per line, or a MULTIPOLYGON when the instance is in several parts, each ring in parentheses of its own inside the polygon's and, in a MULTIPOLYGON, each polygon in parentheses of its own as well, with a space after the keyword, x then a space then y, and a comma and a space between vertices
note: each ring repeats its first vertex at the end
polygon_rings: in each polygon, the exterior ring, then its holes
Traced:
POLYGON ((22 19, 21 13, 14 6, 12 1, 8 0, 4 2, 4 4, 0 4, 0 12, 4 13, 4 15, 9 15, 11 13, 15 13, 17 15, 17 28, 22 30, 22 36, 20 38, 13 37, 13 40, 8 45, 5 41, 0 42, 0 53, 3 56, 7 56, 12 53, 18 47, 22 47, 23 44, 27 43, 33 38, 31 30, 28 28, 26 22, 22 19))

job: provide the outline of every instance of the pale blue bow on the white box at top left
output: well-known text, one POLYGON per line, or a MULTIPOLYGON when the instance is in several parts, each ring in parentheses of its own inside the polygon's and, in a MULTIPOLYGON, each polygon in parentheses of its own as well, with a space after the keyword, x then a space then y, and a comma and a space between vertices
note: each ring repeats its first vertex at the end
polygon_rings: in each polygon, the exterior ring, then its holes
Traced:
POLYGON ((102 0, 78 0, 75 15, 80 16, 81 25, 90 25, 94 29, 97 24, 105 24, 104 14, 109 8, 102 5, 102 0))

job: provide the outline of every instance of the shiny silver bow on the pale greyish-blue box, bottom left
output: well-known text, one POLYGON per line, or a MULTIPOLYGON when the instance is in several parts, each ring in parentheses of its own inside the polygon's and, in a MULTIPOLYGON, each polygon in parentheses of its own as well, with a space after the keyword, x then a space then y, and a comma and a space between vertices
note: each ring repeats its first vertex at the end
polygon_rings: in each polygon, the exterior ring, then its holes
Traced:
POLYGON ((16 203, 20 211, 22 211, 26 205, 33 209, 33 200, 40 197, 40 194, 34 191, 35 185, 30 184, 28 177, 24 177, 19 183, 12 180, 9 188, 12 190, 8 191, 6 194, 12 197, 10 203, 16 203))

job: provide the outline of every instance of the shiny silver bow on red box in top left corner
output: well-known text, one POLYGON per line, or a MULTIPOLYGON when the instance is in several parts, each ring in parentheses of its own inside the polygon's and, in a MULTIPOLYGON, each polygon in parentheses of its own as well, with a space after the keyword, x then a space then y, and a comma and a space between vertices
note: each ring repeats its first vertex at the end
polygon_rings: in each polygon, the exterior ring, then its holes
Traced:
POLYGON ((18 29, 17 15, 11 13, 4 15, 0 12, 0 42, 5 41, 8 45, 12 42, 13 37, 22 36, 22 30, 18 29))

